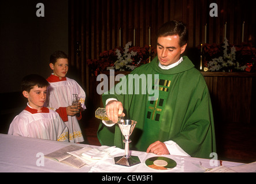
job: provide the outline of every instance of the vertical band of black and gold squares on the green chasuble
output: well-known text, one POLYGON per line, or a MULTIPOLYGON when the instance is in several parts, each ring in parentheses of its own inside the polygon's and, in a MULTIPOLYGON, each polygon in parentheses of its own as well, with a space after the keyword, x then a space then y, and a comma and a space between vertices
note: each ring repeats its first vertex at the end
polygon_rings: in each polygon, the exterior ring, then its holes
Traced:
POLYGON ((159 97, 154 99, 151 97, 151 100, 148 102, 148 111, 147 118, 153 121, 160 121, 162 108, 164 107, 166 98, 168 96, 168 91, 170 89, 170 82, 164 79, 156 79, 155 85, 152 87, 154 90, 159 90, 159 97))

